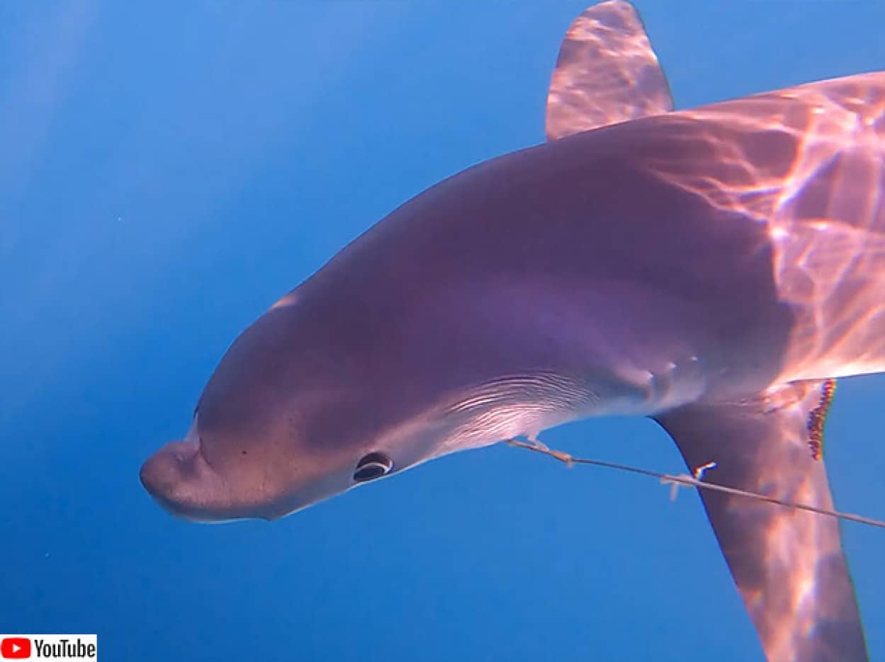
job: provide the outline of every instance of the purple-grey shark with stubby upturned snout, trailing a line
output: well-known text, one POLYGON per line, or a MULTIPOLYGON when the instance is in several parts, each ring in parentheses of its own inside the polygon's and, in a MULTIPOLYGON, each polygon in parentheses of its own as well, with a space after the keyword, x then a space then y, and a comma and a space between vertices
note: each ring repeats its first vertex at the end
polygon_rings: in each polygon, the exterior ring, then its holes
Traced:
MULTIPOLYGON (((704 481, 833 507, 840 377, 885 371, 885 72, 674 110, 635 8, 561 44, 547 140, 418 194, 252 323, 141 481, 275 520, 448 453, 648 416, 704 481)), ((835 519, 703 491, 771 662, 867 659, 835 519)))

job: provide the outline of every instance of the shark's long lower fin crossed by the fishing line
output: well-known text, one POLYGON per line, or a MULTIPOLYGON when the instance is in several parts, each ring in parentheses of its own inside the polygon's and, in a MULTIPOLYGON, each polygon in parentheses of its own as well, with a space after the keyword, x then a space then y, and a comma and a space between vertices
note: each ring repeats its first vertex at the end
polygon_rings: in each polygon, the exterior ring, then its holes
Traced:
MULTIPOLYGON (((657 417, 704 482, 833 508, 820 432, 833 382, 797 382, 740 404, 694 404, 657 417)), ((700 490, 720 548, 770 662, 866 660, 838 521, 700 490)))

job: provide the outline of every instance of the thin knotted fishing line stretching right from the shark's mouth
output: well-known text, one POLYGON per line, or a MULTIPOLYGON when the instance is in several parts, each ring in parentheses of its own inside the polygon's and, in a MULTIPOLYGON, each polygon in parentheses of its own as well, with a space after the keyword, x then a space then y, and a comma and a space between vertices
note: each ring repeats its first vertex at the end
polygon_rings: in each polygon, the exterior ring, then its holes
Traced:
POLYGON ((687 485, 689 487, 696 487, 699 490, 711 490, 718 492, 725 492, 726 494, 731 494, 736 497, 745 497, 745 498, 755 498, 757 501, 765 501, 769 504, 777 504, 778 506, 785 506, 788 508, 793 508, 795 510, 805 510, 809 513, 817 513, 820 515, 827 515, 827 517, 835 517, 840 520, 848 520, 848 521, 857 521, 860 524, 866 524, 871 527, 878 527, 879 529, 885 529, 885 521, 881 520, 873 520, 869 517, 861 517, 860 515, 850 514, 850 513, 842 513, 838 510, 827 510, 826 508, 818 508, 815 506, 807 506, 806 504, 799 504, 794 501, 787 501, 782 498, 774 498, 767 497, 765 494, 759 494, 758 492, 751 492, 745 490, 737 490, 733 487, 726 487, 725 485, 717 485, 716 483, 706 483, 703 480, 704 470, 707 468, 715 467, 714 463, 705 464, 703 467, 699 467, 695 471, 695 476, 689 476, 688 474, 661 474, 658 471, 650 471, 649 469, 643 469, 638 467, 630 467, 627 464, 617 464, 616 462, 604 462, 603 460, 588 460, 586 458, 576 458, 570 455, 569 453, 564 453, 563 451, 555 451, 548 448, 546 445, 543 445, 537 439, 530 439, 528 441, 519 441, 519 439, 509 439, 507 441, 508 445, 516 446, 518 448, 526 448, 529 451, 534 451, 535 453, 543 453, 544 455, 549 455, 554 460, 559 460, 566 464, 566 466, 571 467, 575 464, 589 464, 593 467, 603 467, 609 469, 616 469, 618 471, 627 471, 631 474, 639 474, 641 476, 650 476, 652 478, 658 478, 661 484, 670 485, 670 498, 675 497, 676 489, 679 485, 687 485))

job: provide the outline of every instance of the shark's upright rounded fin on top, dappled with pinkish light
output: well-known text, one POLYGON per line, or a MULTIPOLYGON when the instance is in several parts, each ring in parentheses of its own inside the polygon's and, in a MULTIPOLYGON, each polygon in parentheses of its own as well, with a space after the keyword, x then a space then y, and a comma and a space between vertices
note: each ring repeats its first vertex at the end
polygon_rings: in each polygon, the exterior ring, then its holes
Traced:
POLYGON ((670 86, 632 4, 595 4, 574 19, 550 80, 548 141, 670 110, 670 86))

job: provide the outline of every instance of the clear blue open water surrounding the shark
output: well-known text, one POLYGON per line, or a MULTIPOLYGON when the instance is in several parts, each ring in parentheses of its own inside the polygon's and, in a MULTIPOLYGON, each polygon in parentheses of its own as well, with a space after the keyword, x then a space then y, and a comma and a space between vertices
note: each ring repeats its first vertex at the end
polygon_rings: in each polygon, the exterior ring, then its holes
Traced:
MULTIPOLYGON (((885 4, 638 3, 686 107, 885 68, 885 4)), ((422 188, 543 140, 581 0, 0 3, 0 631, 105 660, 761 659, 699 502, 509 448, 199 526, 138 468, 228 343, 422 188)), ((841 384, 839 506, 885 516, 885 378, 841 384)), ((545 436, 677 472, 664 433, 545 436)), ((885 659, 885 533, 845 544, 885 659)))

